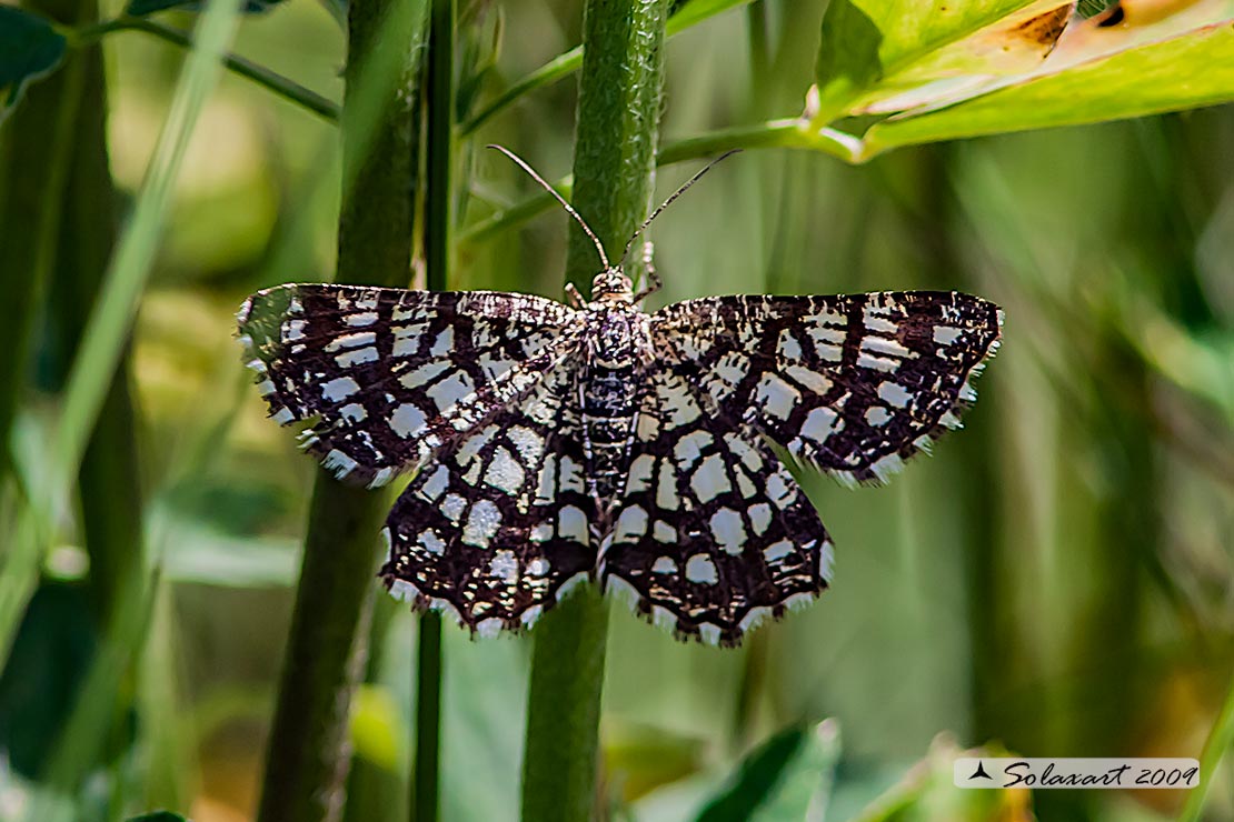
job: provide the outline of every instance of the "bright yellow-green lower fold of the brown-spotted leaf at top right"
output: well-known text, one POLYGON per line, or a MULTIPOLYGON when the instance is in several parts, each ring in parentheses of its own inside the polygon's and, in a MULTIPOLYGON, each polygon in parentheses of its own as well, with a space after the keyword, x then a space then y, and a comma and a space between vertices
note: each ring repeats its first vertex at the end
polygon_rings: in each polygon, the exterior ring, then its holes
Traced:
POLYGON ((888 118, 865 154, 897 145, 1140 117, 1234 100, 1234 27, 1228 21, 916 117, 888 118))

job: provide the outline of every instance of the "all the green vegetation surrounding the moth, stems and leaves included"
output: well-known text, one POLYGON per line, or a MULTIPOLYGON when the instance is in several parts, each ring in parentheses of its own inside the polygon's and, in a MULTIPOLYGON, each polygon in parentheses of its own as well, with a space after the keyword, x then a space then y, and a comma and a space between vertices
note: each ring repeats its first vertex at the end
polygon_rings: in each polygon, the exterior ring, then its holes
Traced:
POLYGON ((1232 100, 1224 0, 0 6, 0 820, 1234 820, 1232 100), (652 229, 650 308, 1006 308, 967 430, 802 477, 808 610, 717 649, 584 592, 473 641, 379 590, 391 498, 264 419, 232 312, 585 288, 486 143, 610 249, 752 149, 652 229), (964 749, 1203 778, 960 791, 964 749))

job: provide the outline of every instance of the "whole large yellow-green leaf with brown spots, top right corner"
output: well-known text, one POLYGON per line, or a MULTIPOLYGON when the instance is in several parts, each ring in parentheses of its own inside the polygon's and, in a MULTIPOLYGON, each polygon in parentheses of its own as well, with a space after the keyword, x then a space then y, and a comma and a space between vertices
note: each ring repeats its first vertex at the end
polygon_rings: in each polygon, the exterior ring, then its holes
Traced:
POLYGON ((1234 100, 1234 1, 1083 20, 1061 0, 834 0, 811 126, 866 128, 855 161, 913 143, 1139 117, 1234 100), (870 124, 872 123, 872 124, 870 124))

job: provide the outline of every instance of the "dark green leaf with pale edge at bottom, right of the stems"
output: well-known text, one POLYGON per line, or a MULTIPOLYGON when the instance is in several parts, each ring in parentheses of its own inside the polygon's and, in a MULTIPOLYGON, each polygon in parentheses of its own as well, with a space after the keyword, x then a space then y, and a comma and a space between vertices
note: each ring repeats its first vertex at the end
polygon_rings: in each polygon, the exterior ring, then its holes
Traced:
POLYGON ((781 731, 745 758, 698 822, 805 820, 830 794, 840 755, 834 720, 781 731))

